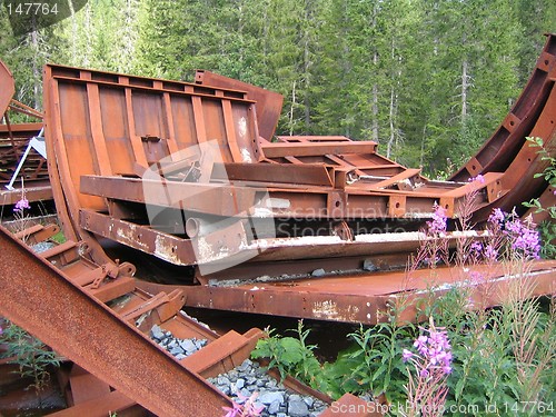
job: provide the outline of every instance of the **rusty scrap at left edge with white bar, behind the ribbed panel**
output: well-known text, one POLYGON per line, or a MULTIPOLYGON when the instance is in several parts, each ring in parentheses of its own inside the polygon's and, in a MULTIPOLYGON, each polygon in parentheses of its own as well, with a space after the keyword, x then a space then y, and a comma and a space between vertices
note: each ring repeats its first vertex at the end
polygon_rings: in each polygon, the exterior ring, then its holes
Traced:
POLYGON ((13 99, 16 81, 0 60, 0 205, 13 205, 22 197, 30 201, 52 199, 47 161, 37 149, 43 148, 40 137, 43 115, 13 99), (12 122, 11 113, 24 115, 30 122, 12 122), (3 120, 3 122, 2 122, 3 120), (34 139, 34 141, 33 141, 34 139), (38 143, 39 146, 32 146, 38 143))

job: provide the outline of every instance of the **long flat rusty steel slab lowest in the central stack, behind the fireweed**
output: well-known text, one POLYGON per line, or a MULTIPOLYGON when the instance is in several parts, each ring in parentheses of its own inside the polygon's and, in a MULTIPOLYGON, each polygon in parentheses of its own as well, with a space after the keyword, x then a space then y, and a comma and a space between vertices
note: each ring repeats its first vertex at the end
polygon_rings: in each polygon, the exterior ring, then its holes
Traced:
MULTIPOLYGON (((477 271, 490 276, 490 279, 484 285, 471 287, 475 308, 500 305, 508 286, 523 278, 508 276, 502 266, 495 270, 483 266, 477 271)), ((183 289, 187 294, 186 306, 189 307, 375 325, 385 319, 384 312, 388 311, 389 302, 399 302, 401 299, 408 305, 401 320, 415 321, 419 300, 429 299, 431 294, 440 297, 453 286, 461 286, 463 279, 466 279, 465 271, 443 267, 435 269, 433 276, 428 270, 416 270, 411 275, 405 271, 348 274, 228 287, 163 286, 145 281, 138 281, 137 285, 150 291, 168 287, 183 289)), ((525 279, 534 282, 533 296, 552 294, 556 261, 534 262, 525 279)))

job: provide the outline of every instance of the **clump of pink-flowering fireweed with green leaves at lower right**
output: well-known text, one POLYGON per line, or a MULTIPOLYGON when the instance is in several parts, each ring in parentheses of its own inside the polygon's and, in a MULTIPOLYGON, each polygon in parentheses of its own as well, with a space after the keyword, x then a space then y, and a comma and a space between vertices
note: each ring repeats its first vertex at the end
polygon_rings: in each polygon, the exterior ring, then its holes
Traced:
MULTIPOLYGON (((477 185, 483 180, 474 179, 477 185)), ((314 366, 311 346, 306 353, 310 371, 298 377, 332 398, 384 395, 390 416, 554 415, 555 297, 535 298, 530 279, 532 260, 543 250, 539 234, 530 219, 500 209, 475 231, 469 224, 474 192, 458 208, 454 228, 460 237, 454 249, 440 239, 451 226, 443 208, 436 208, 424 230, 421 248, 407 268, 408 288, 416 269, 429 269, 433 284, 420 300, 411 304, 404 292, 393 297, 378 325, 348 335, 354 345, 335 363, 314 366), (435 287, 438 265, 448 261, 464 285, 435 287), (508 282, 504 294, 494 278, 500 272, 508 282), (502 305, 489 307, 493 298, 502 305), (409 307, 424 325, 404 321, 409 307)), ((276 366, 280 356, 272 359, 276 366)))

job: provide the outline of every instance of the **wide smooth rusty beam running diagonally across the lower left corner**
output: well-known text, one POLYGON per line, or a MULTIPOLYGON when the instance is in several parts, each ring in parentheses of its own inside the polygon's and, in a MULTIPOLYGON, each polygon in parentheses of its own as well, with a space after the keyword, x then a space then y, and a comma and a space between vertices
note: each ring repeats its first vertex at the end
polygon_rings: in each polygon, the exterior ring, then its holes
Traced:
POLYGON ((197 374, 10 238, 4 228, 0 247, 6 272, 0 280, 2 316, 157 415, 208 417, 230 405, 197 374))

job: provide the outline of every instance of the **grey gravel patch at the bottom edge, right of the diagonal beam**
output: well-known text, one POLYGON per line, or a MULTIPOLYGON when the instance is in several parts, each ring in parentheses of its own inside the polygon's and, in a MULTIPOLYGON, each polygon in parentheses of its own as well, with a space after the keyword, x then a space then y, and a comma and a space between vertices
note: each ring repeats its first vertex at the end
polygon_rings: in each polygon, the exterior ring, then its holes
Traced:
POLYGON ((265 406, 261 416, 315 417, 327 407, 317 398, 302 396, 286 388, 269 376, 259 364, 249 359, 229 373, 208 380, 237 404, 244 404, 245 398, 258 393, 256 406, 265 406))

